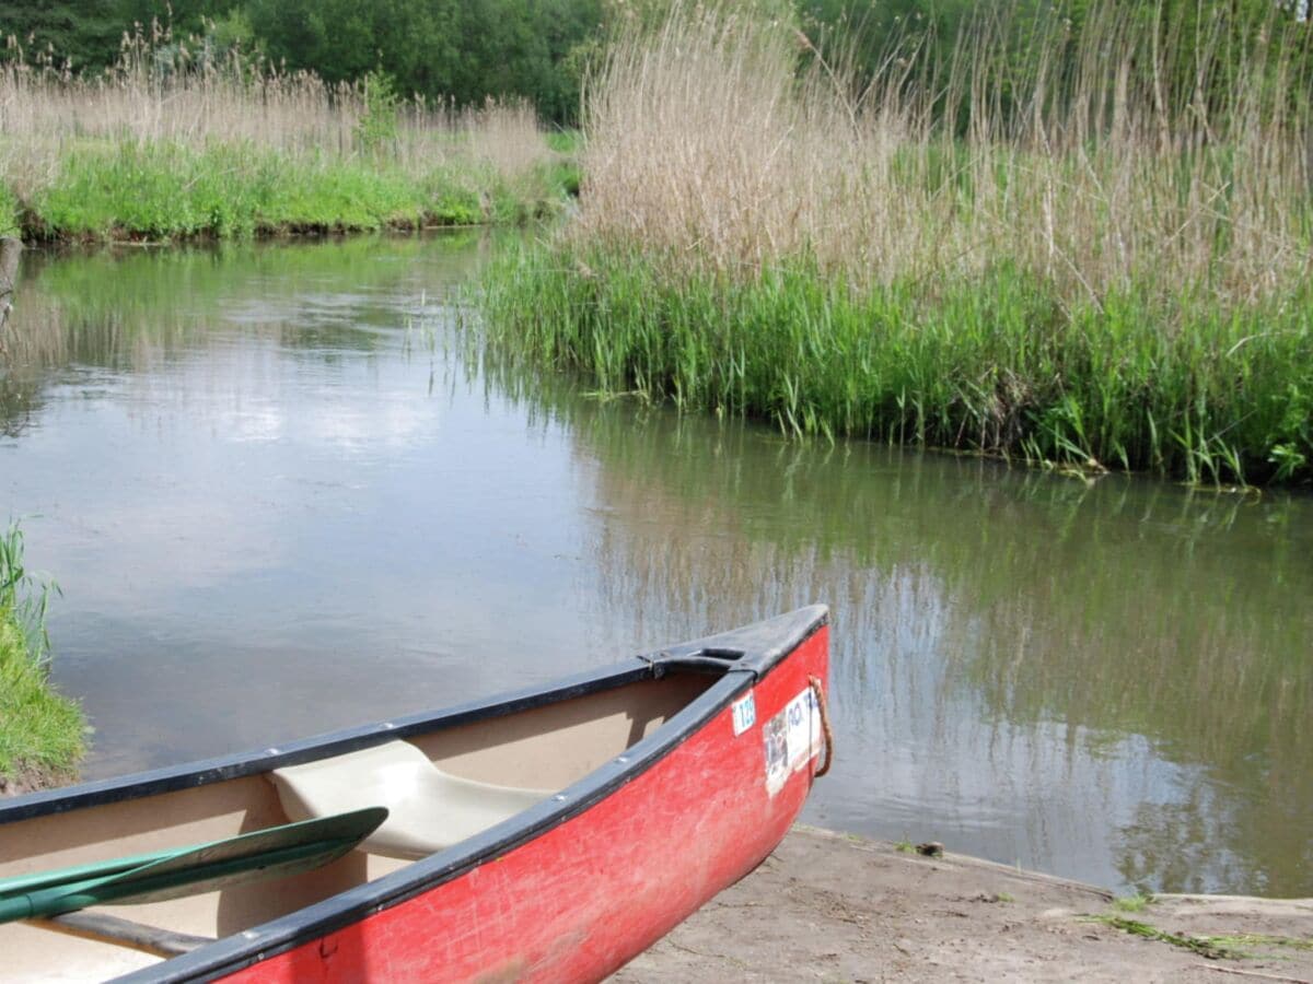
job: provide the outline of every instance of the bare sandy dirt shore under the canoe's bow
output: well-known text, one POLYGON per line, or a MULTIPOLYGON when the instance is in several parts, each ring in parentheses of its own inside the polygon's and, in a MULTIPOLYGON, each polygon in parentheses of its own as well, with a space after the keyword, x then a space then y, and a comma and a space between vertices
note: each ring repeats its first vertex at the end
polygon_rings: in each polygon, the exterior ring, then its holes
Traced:
POLYGON ((1092 886, 798 827, 612 980, 1313 984, 1313 900, 1125 912, 1092 886))

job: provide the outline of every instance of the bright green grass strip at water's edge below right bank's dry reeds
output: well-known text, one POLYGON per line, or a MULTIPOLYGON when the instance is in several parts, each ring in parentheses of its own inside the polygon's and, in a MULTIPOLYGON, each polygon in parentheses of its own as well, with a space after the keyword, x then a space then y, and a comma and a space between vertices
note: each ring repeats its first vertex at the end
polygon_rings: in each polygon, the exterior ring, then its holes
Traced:
POLYGON ((827 440, 910 442, 1195 483, 1313 478, 1313 289, 1222 310, 1182 289, 1064 300, 1001 262, 853 289, 650 252, 528 247, 491 268, 491 341, 611 392, 827 440))

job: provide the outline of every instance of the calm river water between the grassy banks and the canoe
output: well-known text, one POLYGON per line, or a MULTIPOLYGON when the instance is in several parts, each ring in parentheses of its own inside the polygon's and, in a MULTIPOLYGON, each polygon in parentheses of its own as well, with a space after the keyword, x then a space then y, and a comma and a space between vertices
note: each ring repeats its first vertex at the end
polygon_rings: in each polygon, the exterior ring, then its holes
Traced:
POLYGON ((806 819, 1313 895, 1313 501, 603 401, 469 356, 477 235, 28 255, 0 521, 89 778, 550 680, 810 601, 806 819))

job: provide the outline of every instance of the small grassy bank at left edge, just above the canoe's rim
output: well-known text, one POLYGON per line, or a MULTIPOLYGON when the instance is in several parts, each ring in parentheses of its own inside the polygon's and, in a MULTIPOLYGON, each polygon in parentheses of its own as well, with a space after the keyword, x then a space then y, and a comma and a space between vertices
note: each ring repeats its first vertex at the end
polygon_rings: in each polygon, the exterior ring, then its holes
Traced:
POLYGON ((85 719, 50 685, 45 593, 22 565, 22 534, 0 539, 0 792, 67 781, 85 750, 85 719))

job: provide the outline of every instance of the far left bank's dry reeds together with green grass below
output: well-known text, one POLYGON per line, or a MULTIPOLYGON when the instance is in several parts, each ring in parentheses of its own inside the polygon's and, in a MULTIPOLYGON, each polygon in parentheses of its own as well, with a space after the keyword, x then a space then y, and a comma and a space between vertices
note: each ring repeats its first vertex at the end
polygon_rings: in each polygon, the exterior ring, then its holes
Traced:
POLYGON ((9 55, 0 235, 28 241, 524 223, 578 185, 523 100, 432 105, 381 72, 327 84, 158 29, 98 75, 9 55))

